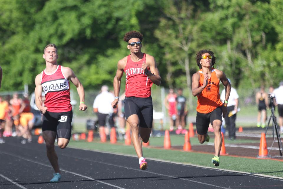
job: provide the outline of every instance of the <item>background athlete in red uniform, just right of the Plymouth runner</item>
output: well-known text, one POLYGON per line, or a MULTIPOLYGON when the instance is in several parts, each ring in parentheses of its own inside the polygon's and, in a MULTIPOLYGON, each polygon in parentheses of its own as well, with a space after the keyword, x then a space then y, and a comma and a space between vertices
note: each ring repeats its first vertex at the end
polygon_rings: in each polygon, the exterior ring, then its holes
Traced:
POLYGON ((165 107, 168 109, 168 114, 170 117, 170 129, 169 131, 174 130, 174 126, 176 124, 176 118, 177 118, 177 94, 175 94, 173 89, 169 89, 169 94, 164 99, 165 107))

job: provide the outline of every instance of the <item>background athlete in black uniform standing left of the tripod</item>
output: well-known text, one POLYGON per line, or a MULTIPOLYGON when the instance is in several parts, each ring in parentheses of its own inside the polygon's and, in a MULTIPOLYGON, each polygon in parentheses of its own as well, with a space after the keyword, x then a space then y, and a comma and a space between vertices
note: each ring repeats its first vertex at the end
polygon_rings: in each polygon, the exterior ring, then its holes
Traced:
POLYGON ((257 115, 257 127, 265 127, 266 107, 268 106, 268 95, 261 86, 260 91, 256 93, 256 104, 258 105, 259 113, 257 115))

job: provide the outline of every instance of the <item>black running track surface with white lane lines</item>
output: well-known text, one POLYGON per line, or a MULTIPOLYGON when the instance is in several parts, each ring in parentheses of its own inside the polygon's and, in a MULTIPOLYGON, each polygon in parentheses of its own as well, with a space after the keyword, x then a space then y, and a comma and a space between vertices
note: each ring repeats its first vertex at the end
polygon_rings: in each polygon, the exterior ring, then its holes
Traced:
POLYGON ((154 160, 148 160, 148 169, 142 171, 136 157, 68 147, 56 147, 56 152, 62 179, 49 183, 53 169, 45 144, 6 138, 0 144, 0 188, 283 188, 278 178, 154 160))

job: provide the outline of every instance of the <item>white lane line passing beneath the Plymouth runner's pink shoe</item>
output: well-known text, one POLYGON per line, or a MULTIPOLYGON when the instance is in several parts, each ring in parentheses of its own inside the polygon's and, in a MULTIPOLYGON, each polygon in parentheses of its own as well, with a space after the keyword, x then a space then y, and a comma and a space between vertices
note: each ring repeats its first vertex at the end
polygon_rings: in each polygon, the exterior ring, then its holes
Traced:
MULTIPOLYGON (((92 160, 92 159, 88 159, 88 158, 81 158, 81 157, 75 157, 75 156, 64 155, 64 154, 61 154, 61 155, 67 156, 67 157, 73 157, 73 158, 76 158, 76 159, 82 159, 82 160, 86 160, 86 161, 91 161, 91 162, 96 162, 96 163, 101 163, 101 164, 106 164, 106 165, 112 165, 112 166, 116 166, 116 167, 126 168, 126 169, 130 169, 130 170, 135 170, 135 171, 139 170, 139 169, 135 169, 135 168, 131 168, 131 167, 125 167, 125 166, 116 165, 116 164, 112 164, 112 163, 96 161, 96 160, 92 160)), ((171 177, 171 178, 174 178, 174 179, 186 180, 186 181, 190 181, 190 182, 193 182, 193 183, 209 185, 209 186, 213 186, 213 187, 217 187, 217 188, 225 188, 225 187, 221 187, 221 186, 217 186, 217 185, 212 185, 212 184, 208 184, 208 183, 202 183, 202 182, 195 181, 195 180, 190 180, 190 179, 185 179, 185 178, 178 178, 178 177, 174 177, 172 175, 164 175, 164 174, 157 173, 157 172, 151 172, 151 171, 146 171, 146 170, 143 170, 142 172, 152 173, 152 174, 155 174, 155 175, 161 175, 161 176, 164 176, 164 177, 171 177)), ((225 189, 231 189, 231 188, 225 188, 225 189)))

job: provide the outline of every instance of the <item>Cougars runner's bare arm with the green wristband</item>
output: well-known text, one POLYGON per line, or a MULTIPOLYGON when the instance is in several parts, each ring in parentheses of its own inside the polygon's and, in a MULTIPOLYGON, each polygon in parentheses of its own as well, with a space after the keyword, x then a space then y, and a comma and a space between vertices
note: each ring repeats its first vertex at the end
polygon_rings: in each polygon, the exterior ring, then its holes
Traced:
POLYGON ((75 75, 74 71, 68 67, 61 66, 62 72, 64 73, 65 77, 70 80, 76 87, 80 97, 80 107, 79 110, 85 111, 88 107, 84 104, 85 102, 85 91, 83 89, 83 85, 81 84, 80 80, 75 75))

